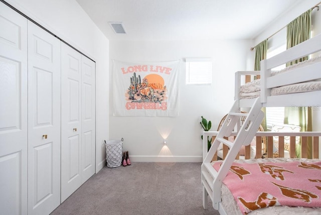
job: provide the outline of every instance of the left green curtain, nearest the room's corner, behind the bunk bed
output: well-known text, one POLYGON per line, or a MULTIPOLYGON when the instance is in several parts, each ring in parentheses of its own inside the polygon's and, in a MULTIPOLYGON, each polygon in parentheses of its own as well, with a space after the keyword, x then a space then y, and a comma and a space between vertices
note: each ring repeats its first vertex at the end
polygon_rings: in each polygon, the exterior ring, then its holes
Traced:
MULTIPOLYGON (((257 44, 255 46, 255 59, 254 59, 254 70, 259 71, 261 69, 260 62, 261 60, 266 59, 266 53, 267 53, 267 39, 262 41, 261 43, 257 44)), ((257 75, 255 79, 259 79, 260 75, 257 75)), ((262 112, 264 113, 265 117, 263 118, 263 121, 261 123, 261 126, 263 127, 264 131, 267 131, 266 129, 266 110, 265 107, 262 107, 262 112)))

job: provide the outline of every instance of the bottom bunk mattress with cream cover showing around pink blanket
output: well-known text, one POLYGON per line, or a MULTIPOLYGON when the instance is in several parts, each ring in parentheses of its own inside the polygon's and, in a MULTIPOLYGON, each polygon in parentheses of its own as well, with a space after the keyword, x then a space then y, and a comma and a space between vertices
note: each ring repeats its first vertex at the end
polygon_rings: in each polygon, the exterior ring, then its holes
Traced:
MULTIPOLYGON (((235 160, 236 163, 286 163, 292 161, 306 162, 306 163, 314 163, 320 162, 319 159, 305 159, 305 158, 265 158, 265 159, 249 159, 249 160, 235 160)), ((214 164, 214 162, 212 163, 214 164)), ((235 201, 232 193, 228 189, 228 187, 222 184, 222 205, 227 214, 243 214, 239 209, 237 202, 235 201)), ((302 207, 302 206, 270 206, 257 210, 253 210, 248 214, 321 214, 321 207, 302 207)))

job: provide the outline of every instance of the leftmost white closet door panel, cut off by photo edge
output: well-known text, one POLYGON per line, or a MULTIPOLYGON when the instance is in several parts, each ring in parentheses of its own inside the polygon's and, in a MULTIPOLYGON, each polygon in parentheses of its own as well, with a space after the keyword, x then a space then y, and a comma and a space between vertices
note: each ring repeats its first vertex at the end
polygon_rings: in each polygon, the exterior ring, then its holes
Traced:
POLYGON ((0 213, 27 211, 27 19, 0 3, 0 213))

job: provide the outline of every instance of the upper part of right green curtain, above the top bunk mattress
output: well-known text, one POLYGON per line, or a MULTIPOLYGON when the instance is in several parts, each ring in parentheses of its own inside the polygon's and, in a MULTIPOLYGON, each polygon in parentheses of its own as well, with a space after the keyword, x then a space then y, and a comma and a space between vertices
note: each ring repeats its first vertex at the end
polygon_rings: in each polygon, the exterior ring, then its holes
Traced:
MULTIPOLYGON (((312 9, 306 11, 286 26, 286 49, 289 49, 307 39, 310 39, 311 12, 312 9)), ((308 57, 305 56, 292 62, 288 62, 286 66, 302 62, 304 60, 307 60, 307 58, 308 57)))

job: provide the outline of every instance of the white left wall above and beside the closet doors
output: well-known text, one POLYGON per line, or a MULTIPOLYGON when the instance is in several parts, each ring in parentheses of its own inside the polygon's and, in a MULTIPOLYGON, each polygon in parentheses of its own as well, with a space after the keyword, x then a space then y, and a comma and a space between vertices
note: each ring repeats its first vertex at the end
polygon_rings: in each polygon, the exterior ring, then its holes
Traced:
POLYGON ((105 163, 109 121, 109 41, 75 0, 7 2, 96 62, 96 172, 105 163))

